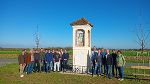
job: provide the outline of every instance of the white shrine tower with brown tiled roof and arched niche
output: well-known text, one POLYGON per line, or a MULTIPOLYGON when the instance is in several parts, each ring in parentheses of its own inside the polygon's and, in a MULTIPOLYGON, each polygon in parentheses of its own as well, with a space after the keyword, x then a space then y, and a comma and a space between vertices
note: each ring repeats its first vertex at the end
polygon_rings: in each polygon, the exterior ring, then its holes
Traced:
POLYGON ((90 66, 91 56, 91 28, 85 18, 71 23, 73 28, 73 70, 85 73, 90 66))

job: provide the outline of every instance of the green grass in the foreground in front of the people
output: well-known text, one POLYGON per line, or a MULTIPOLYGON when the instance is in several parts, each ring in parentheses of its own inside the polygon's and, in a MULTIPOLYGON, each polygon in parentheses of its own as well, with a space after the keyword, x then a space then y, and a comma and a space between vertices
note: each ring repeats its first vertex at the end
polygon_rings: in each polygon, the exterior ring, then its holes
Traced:
POLYGON ((150 81, 136 81, 132 77, 118 81, 116 78, 92 77, 90 75, 62 74, 62 73, 33 73, 19 77, 18 65, 9 64, 0 67, 0 84, 149 84, 150 81))

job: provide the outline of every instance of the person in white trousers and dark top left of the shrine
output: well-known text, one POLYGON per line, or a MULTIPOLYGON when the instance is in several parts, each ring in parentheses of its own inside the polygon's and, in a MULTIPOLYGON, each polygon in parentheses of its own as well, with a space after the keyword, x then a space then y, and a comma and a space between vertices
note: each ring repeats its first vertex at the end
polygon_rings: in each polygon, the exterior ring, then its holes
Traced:
POLYGON ((54 53, 54 72, 56 71, 56 68, 57 68, 57 71, 59 71, 60 59, 61 59, 60 54, 58 50, 56 50, 56 52, 54 53))

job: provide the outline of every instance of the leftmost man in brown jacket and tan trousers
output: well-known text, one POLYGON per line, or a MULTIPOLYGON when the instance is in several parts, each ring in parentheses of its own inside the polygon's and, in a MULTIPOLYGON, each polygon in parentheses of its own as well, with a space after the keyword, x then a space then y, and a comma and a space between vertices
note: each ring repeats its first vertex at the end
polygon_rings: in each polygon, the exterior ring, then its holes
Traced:
POLYGON ((18 62, 19 62, 19 72, 20 72, 20 77, 23 77, 23 71, 25 67, 25 60, 24 60, 24 55, 25 51, 22 51, 22 54, 18 56, 18 62))

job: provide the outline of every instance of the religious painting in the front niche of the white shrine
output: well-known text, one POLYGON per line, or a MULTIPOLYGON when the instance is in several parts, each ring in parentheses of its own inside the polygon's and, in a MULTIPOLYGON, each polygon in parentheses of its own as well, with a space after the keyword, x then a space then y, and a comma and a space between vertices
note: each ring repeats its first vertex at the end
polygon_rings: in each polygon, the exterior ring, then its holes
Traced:
POLYGON ((76 31, 76 46, 82 47, 84 46, 84 30, 78 29, 76 31))

